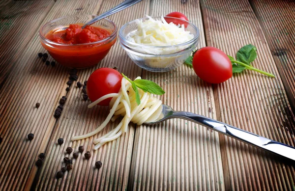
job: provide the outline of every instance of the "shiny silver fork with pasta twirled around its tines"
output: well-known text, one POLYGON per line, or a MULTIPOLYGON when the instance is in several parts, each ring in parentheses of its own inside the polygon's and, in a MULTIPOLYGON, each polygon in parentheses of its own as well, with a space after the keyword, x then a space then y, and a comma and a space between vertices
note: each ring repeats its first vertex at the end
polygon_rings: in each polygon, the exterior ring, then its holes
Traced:
POLYGON ((271 139, 268 139, 263 136, 258 136, 253 133, 238 129, 234 126, 222 123, 220 121, 205 117, 203 115, 186 112, 186 111, 175 111, 170 106, 162 105, 162 114, 163 118, 159 119, 158 121, 145 123, 148 125, 153 125, 157 123, 161 123, 168 119, 172 118, 180 118, 186 119, 205 127, 208 127, 218 133, 222 133, 226 136, 231 136, 236 138, 240 141, 243 141, 247 144, 255 146, 257 148, 263 149, 265 151, 287 157, 291 160, 295 161, 295 147, 283 144, 281 142, 277 142, 271 139))

